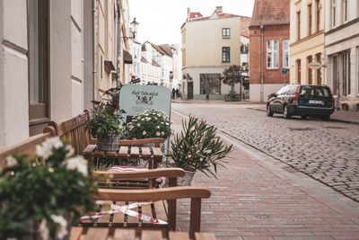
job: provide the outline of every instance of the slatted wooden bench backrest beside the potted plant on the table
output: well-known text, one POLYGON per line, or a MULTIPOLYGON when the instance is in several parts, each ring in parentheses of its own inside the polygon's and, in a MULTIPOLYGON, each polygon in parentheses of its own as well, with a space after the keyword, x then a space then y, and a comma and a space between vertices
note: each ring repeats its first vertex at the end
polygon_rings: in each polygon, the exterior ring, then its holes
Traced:
POLYGON ((85 129, 84 118, 87 118, 88 111, 83 112, 84 116, 76 116, 61 122, 50 121, 48 126, 55 129, 56 135, 61 140, 68 140, 77 155, 83 155, 83 150, 91 143, 91 134, 85 129))

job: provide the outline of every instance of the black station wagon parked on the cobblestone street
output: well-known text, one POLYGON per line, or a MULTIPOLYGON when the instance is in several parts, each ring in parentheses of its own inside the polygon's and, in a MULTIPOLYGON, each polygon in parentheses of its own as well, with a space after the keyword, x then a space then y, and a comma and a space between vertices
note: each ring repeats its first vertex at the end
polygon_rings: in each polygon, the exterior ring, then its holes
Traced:
POLYGON ((281 113, 285 119, 299 115, 329 120, 335 110, 333 93, 326 85, 288 84, 277 93, 268 95, 267 116, 281 113))

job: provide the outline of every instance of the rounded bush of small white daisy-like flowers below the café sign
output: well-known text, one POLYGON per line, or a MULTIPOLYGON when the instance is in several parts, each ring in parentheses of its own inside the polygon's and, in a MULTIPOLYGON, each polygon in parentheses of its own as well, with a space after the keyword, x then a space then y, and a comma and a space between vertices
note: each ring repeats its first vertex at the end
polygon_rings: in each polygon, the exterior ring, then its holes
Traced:
POLYGON ((163 111, 145 109, 127 124, 123 134, 128 139, 168 138, 171 136, 171 121, 163 111))

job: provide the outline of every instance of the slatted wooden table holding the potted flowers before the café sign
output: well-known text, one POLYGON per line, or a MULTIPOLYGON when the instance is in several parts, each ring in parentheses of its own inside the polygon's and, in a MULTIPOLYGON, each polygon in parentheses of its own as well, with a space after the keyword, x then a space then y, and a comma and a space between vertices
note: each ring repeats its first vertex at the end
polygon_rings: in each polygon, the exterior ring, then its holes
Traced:
POLYGON ((148 168, 153 169, 162 163, 163 154, 160 147, 120 146, 116 152, 105 152, 91 144, 83 150, 83 156, 92 163, 94 157, 143 159, 148 161, 148 168))

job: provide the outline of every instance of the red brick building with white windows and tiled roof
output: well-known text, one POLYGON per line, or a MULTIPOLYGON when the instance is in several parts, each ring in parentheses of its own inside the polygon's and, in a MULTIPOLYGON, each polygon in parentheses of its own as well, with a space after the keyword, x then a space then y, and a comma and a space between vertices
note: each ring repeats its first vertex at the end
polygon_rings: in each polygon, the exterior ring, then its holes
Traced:
POLYGON ((289 83, 289 5, 290 0, 255 0, 250 22, 250 101, 266 102, 269 93, 289 83))

